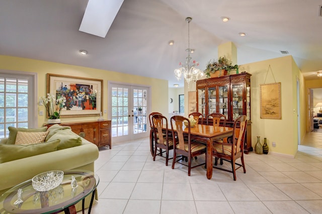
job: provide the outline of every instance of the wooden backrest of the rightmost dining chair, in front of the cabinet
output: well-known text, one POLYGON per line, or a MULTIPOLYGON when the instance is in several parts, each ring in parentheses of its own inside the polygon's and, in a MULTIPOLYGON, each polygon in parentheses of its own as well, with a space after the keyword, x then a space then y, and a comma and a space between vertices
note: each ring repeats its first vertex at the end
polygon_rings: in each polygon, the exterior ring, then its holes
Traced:
POLYGON ((242 115, 238 117, 233 123, 233 135, 232 141, 235 145, 235 154, 238 152, 243 152, 244 150, 244 140, 247 130, 247 117, 242 115))

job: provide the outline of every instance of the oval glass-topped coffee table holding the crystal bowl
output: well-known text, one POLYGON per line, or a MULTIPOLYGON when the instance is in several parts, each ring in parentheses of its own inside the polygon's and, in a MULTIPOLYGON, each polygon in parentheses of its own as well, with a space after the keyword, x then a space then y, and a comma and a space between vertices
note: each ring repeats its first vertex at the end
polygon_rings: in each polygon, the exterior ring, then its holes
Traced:
POLYGON ((81 200, 84 213, 85 197, 92 193, 89 213, 94 201, 98 175, 86 170, 69 170, 64 172, 62 183, 48 191, 36 191, 31 179, 14 186, 0 196, 0 213, 76 213, 75 204, 81 200), (76 179, 77 187, 71 187, 71 176, 76 179), (23 202, 18 201, 21 195, 23 202))

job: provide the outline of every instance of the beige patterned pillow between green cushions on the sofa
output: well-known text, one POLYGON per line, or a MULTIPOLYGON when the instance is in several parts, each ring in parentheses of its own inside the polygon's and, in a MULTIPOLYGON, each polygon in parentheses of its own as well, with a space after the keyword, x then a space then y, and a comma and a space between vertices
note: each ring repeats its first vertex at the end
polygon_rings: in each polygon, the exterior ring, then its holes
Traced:
POLYGON ((16 145, 30 145, 36 143, 42 143, 45 141, 46 136, 48 135, 49 131, 47 132, 20 132, 18 131, 16 136, 16 145))

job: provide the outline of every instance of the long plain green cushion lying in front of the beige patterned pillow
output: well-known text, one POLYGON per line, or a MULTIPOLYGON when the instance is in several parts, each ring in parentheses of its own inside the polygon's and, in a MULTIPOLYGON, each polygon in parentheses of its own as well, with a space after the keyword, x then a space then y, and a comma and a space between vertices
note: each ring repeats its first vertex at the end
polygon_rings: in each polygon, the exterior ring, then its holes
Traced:
POLYGON ((60 140, 24 145, 0 144, 0 163, 57 151, 60 140))

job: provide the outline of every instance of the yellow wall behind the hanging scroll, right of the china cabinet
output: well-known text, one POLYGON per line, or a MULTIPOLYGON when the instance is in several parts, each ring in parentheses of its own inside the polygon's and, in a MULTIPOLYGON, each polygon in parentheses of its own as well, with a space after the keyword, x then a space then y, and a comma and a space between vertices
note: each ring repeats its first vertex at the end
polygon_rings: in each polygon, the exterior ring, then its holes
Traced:
MULTIPOLYGON (((239 65, 239 72, 251 73, 251 121, 252 145, 256 144, 257 137, 261 137, 263 144, 267 138, 269 151, 275 154, 294 156, 297 152, 297 96, 296 78, 300 81, 300 138, 305 135, 305 100, 304 79, 292 56, 264 60, 244 65, 239 65), (268 68, 271 65, 276 82, 281 82, 282 119, 271 120, 260 118, 260 84, 274 83, 274 77, 268 68), (267 77, 266 77, 267 74, 267 77), (293 113, 295 110, 295 113, 293 113), (272 146, 276 142, 276 147, 272 146)), ((195 90, 190 89, 190 90, 195 90)), ((188 88, 185 87, 185 94, 188 88)))

